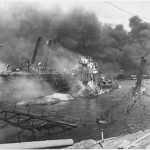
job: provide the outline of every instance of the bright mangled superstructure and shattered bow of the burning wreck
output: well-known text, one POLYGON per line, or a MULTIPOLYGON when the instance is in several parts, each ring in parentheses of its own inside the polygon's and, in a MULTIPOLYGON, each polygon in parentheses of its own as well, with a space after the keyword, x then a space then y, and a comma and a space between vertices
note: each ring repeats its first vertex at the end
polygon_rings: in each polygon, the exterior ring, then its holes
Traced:
POLYGON ((75 72, 74 90, 77 96, 93 97, 119 88, 115 80, 98 71, 98 64, 92 57, 81 57, 75 72))

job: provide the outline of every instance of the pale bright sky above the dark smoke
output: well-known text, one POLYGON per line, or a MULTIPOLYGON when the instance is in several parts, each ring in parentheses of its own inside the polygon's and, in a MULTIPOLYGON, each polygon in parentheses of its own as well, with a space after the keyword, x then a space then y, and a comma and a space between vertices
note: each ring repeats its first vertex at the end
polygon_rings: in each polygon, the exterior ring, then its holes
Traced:
MULTIPOLYGON (((6 2, 15 0, 0 0, 0 8, 6 6, 6 2)), ((143 21, 150 23, 150 0, 147 1, 102 1, 102 0, 16 0, 16 1, 39 1, 41 6, 45 9, 52 9, 55 6, 60 7, 63 11, 67 12, 75 6, 83 7, 84 9, 94 12, 100 22, 111 24, 123 24, 124 28, 130 31, 129 18, 132 15, 138 15, 143 21), (109 2, 109 3, 108 3, 109 2), (119 7, 124 11, 116 8, 119 7)))

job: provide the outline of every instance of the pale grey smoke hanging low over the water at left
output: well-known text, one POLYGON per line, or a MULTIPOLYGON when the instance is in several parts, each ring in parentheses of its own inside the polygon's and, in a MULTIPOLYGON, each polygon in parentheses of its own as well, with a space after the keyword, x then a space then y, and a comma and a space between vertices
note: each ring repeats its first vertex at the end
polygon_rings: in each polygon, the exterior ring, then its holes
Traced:
POLYGON ((2 78, 0 79, 0 98, 7 101, 29 100, 31 98, 51 95, 55 92, 48 83, 45 81, 41 83, 37 79, 14 78, 10 82, 5 82, 2 78))

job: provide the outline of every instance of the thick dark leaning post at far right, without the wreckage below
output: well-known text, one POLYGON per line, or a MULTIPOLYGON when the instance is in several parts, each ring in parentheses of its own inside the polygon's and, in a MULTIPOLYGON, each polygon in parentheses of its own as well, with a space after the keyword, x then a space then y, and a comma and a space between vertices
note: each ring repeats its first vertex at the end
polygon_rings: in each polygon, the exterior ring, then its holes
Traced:
POLYGON ((145 67, 145 63, 146 63, 146 58, 141 57, 141 64, 140 64, 139 73, 138 73, 138 76, 137 76, 136 89, 139 89, 141 87, 142 75, 143 75, 143 70, 144 70, 144 67, 145 67))

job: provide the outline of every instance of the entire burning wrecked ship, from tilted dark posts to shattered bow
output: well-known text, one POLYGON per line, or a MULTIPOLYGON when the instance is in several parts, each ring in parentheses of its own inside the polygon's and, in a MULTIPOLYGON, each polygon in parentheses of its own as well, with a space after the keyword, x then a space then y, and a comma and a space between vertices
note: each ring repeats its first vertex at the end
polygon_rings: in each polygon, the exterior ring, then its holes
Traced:
POLYGON ((44 65, 39 62, 36 66, 35 58, 42 37, 38 37, 31 62, 27 58, 23 58, 19 68, 10 68, 7 65, 6 70, 1 73, 1 77, 5 81, 14 78, 34 78, 41 82, 48 82, 57 92, 71 92, 77 96, 92 97, 97 96, 119 87, 116 81, 113 81, 98 71, 98 64, 93 61, 92 57, 83 56, 79 63, 71 70, 71 72, 58 71, 58 69, 47 69, 49 48, 51 40, 47 42, 47 53, 44 65))

